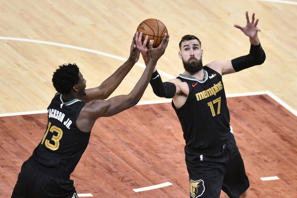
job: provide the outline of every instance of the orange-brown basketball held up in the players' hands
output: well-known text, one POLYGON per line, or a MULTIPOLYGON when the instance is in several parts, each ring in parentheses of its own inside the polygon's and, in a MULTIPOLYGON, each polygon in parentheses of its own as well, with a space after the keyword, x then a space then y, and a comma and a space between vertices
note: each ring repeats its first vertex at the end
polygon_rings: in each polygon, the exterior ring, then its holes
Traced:
POLYGON ((166 26, 157 19, 146 19, 142 21, 138 25, 136 31, 143 33, 141 38, 142 44, 146 35, 149 36, 146 46, 149 46, 149 40, 154 40, 153 48, 156 48, 160 45, 165 33, 168 34, 166 26))

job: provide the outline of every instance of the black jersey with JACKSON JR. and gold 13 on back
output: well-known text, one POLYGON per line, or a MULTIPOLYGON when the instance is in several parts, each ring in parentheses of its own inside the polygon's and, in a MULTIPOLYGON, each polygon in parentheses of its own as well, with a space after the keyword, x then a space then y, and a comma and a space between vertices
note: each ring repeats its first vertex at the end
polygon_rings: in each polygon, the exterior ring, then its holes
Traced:
POLYGON ((48 170, 71 174, 87 148, 90 132, 79 130, 76 119, 85 103, 74 99, 63 103, 56 95, 49 104, 48 123, 41 143, 33 157, 48 170))

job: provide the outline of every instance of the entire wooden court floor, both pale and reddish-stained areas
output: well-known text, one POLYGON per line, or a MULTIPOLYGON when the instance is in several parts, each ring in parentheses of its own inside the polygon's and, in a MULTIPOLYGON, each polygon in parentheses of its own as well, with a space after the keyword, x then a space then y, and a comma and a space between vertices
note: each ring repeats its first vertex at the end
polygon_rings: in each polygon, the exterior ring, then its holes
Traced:
MULTIPOLYGON (((265 94, 227 99, 250 179, 248 197, 297 197, 296 0, 0 0, 0 197, 10 197, 47 123, 46 114, 7 115, 46 110, 58 65, 76 63, 87 88, 96 87, 128 58, 140 22, 155 18, 170 33, 157 64, 168 81, 184 71, 178 44, 186 34, 202 42, 203 64, 248 54, 248 37, 233 27, 245 26, 245 11, 259 19, 266 60, 224 76, 226 94, 268 91, 291 110, 265 94), (279 179, 260 179, 270 176, 279 179)), ((111 97, 132 90, 143 64, 140 57, 111 97)), ((155 100, 148 86, 141 102, 155 100)), ((137 105, 97 120, 71 178, 78 193, 94 197, 189 197, 183 147, 170 103, 137 105), (172 185, 132 191, 165 182, 172 185)))

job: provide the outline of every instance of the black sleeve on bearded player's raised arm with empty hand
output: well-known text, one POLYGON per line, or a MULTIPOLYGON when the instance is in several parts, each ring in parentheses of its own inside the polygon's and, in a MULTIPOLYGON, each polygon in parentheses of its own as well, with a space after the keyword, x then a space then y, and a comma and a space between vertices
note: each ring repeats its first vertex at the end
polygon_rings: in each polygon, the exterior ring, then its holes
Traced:
POLYGON ((245 56, 240 56, 236 59, 231 60, 231 64, 236 72, 239 72, 243 69, 250 68, 255 65, 260 65, 264 63, 266 59, 265 52, 261 46, 259 45, 252 45, 250 48, 250 53, 245 56))

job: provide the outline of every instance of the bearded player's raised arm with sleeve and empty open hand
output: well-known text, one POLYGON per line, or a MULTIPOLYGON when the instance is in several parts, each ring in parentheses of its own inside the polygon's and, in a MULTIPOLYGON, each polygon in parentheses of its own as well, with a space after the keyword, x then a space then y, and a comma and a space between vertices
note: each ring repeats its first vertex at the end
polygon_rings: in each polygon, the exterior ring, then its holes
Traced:
POLYGON ((257 27, 258 19, 255 21, 255 13, 252 14, 252 21, 250 22, 248 12, 245 13, 247 24, 241 27, 237 24, 235 28, 240 29, 246 36, 249 37, 251 47, 248 55, 240 56, 232 60, 218 60, 207 64, 206 66, 224 74, 239 72, 243 69, 250 68, 255 65, 260 65, 265 61, 265 52, 260 44, 258 32, 261 30, 257 27))

